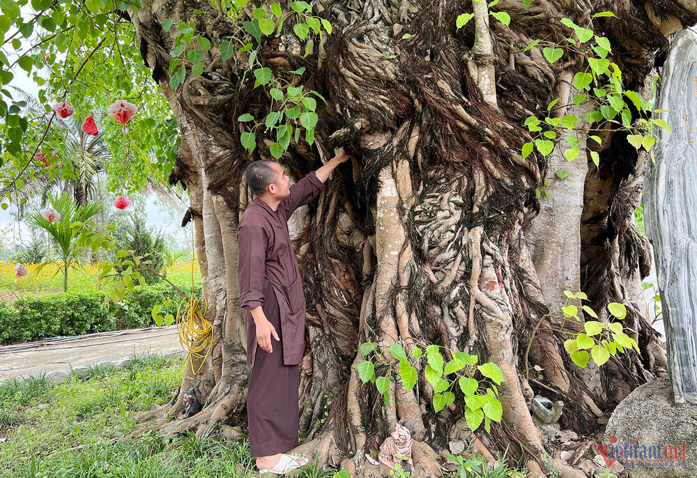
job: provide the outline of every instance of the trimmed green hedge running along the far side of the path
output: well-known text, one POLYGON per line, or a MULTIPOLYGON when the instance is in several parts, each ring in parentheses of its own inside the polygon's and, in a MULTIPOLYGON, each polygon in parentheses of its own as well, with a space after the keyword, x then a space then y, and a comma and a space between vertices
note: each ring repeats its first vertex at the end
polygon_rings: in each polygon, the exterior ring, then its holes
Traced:
MULTIPOLYGON (((201 286, 197 289, 194 293, 200 296, 201 286)), ((183 287, 187 290, 190 286, 183 287)), ((165 282, 136 286, 118 304, 105 302, 104 293, 96 290, 0 302, 0 344, 150 327, 155 325, 151 310, 156 304, 164 306, 162 316, 176 316, 179 302, 181 296, 165 282)))

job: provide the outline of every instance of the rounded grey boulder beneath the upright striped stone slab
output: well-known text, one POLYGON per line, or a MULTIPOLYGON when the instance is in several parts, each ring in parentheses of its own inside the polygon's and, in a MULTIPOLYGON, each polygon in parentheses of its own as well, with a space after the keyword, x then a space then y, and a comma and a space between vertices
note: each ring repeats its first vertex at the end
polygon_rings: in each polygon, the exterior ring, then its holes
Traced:
POLYGON ((619 458, 631 478, 697 477, 697 406, 675 403, 671 381, 658 378, 615 408, 604 443, 594 446, 606 463, 619 458))

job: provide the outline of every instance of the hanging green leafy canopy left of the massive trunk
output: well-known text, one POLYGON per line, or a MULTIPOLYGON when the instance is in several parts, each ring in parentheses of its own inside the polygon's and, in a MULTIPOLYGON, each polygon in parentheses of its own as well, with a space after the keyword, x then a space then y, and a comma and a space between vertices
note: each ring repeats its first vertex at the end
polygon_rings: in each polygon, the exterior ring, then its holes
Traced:
POLYGON ((112 159, 105 164, 110 190, 140 190, 148 174, 169 174, 178 130, 127 21, 126 10, 138 6, 137 0, 0 2, 2 208, 23 202, 30 181, 80 176, 69 131, 75 128, 52 109, 56 102, 75 109, 74 121, 95 119, 112 159), (24 72, 39 88, 38 108, 11 88, 13 77, 24 72), (122 99, 139 108, 128 134, 107 116, 107 106, 122 99), (36 160, 41 154, 50 158, 49 165, 36 160))

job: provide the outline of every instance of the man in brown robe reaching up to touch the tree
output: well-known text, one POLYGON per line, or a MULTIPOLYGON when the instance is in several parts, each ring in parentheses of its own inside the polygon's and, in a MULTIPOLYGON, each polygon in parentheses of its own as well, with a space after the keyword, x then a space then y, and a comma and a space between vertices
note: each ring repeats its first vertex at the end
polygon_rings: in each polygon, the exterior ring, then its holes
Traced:
POLYGON ((247 394, 250 453, 259 470, 297 468, 284 452, 298 445, 299 364, 305 348, 305 294, 287 221, 324 190, 334 169, 348 160, 343 149, 293 187, 274 161, 247 167, 254 200, 240 219, 238 282, 252 365, 247 394))

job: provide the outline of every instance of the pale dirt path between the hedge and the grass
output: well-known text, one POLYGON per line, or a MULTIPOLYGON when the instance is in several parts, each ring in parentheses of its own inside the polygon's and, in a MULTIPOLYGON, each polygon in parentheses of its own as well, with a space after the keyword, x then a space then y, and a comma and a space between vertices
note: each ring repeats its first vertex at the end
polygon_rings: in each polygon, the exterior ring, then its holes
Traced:
POLYGON ((116 362, 134 353, 181 351, 176 325, 118 330, 0 347, 0 382, 12 377, 116 362))

